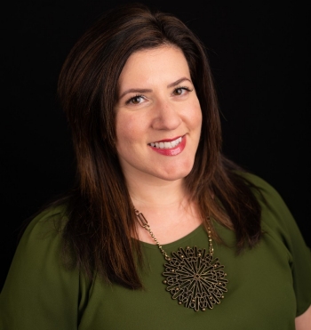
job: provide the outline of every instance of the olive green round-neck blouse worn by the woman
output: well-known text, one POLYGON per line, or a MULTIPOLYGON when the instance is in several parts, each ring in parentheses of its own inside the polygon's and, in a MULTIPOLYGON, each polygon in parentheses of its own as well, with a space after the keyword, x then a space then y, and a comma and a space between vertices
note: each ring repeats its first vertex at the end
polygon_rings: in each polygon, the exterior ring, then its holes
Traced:
MULTIPOLYGON (((236 255, 234 232, 215 224, 226 245, 213 243, 214 257, 225 265, 228 283, 225 298, 212 310, 195 312, 171 299, 156 245, 141 243, 144 290, 90 281, 78 270, 66 270, 54 225, 66 216, 63 207, 56 207, 38 215, 20 240, 0 294, 0 329, 294 330, 294 318, 311 303, 310 250, 275 189, 257 176, 248 178, 267 199, 268 205, 260 201, 266 233, 257 247, 236 255)), ((171 254, 187 245, 208 249, 202 226, 163 249, 171 254)))

